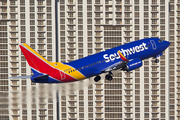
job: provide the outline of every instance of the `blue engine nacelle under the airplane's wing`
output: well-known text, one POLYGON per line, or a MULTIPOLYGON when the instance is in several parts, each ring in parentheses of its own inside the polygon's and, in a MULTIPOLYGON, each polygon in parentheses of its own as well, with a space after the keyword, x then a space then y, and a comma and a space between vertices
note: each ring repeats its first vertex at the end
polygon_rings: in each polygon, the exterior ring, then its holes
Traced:
POLYGON ((133 59, 127 63, 127 65, 123 68, 124 71, 131 71, 137 69, 142 66, 142 60, 139 58, 133 59))

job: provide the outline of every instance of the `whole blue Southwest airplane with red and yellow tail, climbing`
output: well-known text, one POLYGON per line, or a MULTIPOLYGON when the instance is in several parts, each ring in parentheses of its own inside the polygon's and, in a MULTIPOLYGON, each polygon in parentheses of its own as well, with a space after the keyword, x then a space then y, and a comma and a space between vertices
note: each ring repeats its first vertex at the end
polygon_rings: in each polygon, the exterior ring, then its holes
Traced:
POLYGON ((34 83, 65 83, 94 77, 94 81, 101 80, 100 75, 107 73, 105 79, 113 79, 112 71, 126 72, 142 66, 142 60, 155 58, 155 62, 170 42, 159 38, 146 38, 106 51, 102 51, 68 63, 49 62, 30 48, 26 43, 19 45, 33 75, 11 78, 30 78, 34 83))

